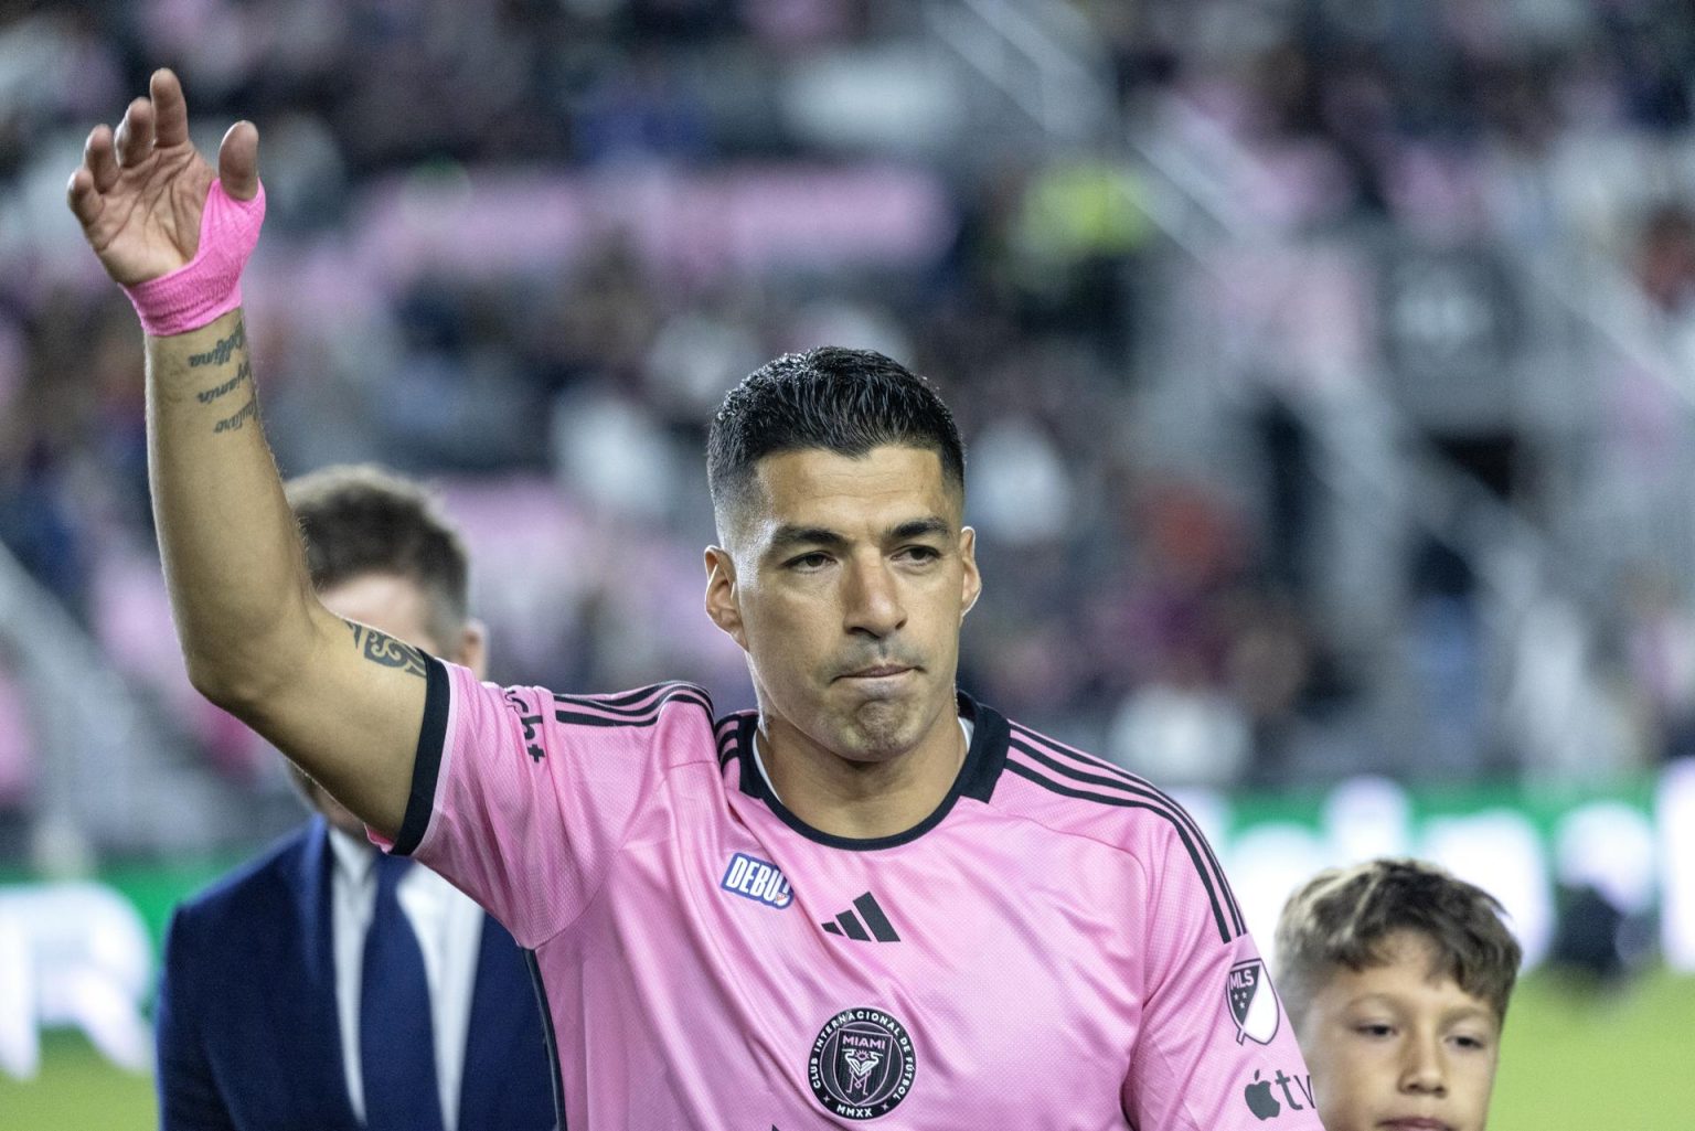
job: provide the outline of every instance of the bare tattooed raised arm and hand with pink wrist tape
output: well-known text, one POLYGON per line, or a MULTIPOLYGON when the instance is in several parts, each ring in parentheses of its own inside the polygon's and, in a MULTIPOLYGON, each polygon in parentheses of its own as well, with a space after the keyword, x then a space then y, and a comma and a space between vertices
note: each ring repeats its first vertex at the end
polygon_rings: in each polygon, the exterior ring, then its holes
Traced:
POLYGON ((393 836, 424 663, 312 592, 236 305, 263 215, 258 149, 253 124, 237 122, 214 175, 188 139, 181 85, 156 71, 115 136, 105 125, 88 136, 68 197, 147 329, 147 473, 188 677, 393 836))

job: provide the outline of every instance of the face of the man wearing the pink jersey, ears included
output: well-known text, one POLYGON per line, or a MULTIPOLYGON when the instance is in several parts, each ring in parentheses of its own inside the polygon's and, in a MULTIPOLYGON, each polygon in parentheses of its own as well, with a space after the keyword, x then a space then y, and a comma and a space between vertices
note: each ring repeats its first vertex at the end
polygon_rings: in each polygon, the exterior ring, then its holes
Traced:
POLYGON ((954 717, 975 534, 934 451, 766 456, 707 551, 707 610, 747 653, 759 707, 853 761, 910 751, 954 717))

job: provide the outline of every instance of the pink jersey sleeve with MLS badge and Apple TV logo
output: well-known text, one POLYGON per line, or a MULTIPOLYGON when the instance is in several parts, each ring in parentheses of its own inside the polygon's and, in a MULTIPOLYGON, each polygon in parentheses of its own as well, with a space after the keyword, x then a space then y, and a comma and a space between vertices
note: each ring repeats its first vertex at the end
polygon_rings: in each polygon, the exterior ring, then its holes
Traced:
POLYGON ((1293 1026, 1205 838, 1159 829, 1148 855, 1141 1036, 1124 1078, 1137 1131, 1324 1131, 1293 1026))

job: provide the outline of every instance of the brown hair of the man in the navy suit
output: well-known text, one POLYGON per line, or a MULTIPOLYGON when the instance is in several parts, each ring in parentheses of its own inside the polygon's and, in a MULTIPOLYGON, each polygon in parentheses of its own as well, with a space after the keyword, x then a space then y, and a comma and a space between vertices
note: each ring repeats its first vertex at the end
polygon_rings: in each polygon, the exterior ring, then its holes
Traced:
POLYGON ((322 468, 283 490, 305 541, 312 588, 371 573, 403 577, 429 599, 437 644, 453 644, 470 617, 470 563, 431 492, 375 465, 322 468))

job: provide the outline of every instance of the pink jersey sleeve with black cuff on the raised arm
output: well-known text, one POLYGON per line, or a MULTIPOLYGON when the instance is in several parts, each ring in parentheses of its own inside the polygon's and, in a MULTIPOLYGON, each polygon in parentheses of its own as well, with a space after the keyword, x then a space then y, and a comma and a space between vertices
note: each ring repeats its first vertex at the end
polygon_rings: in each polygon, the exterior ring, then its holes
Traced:
POLYGON ((536 948, 595 897, 653 797, 664 748, 712 751, 697 687, 559 697, 431 658, 412 795, 395 839, 536 948))

